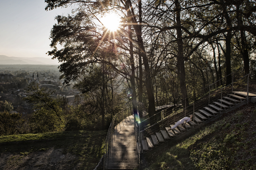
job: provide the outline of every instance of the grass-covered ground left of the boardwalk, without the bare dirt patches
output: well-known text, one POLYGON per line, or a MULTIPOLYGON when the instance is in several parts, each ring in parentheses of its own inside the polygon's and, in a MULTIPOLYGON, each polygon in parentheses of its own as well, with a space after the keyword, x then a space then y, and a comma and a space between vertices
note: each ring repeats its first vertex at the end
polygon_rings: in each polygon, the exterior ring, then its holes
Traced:
MULTIPOLYGON (((12 155, 7 158, 7 162, 1 168, 23 169, 27 168, 24 163, 24 157, 33 157, 40 155, 47 150, 61 150, 64 155, 74 155, 77 159, 70 162, 62 162, 62 166, 55 165, 51 169, 94 169, 103 155, 103 143, 107 131, 71 131, 61 133, 42 133, 42 134, 26 134, 14 136, 2 136, 0 142, 0 153, 2 155, 12 155), (83 136, 81 138, 76 138, 83 136), (75 137, 75 138, 73 138, 75 137), (66 138, 66 139, 64 139, 66 138), (55 139, 55 140, 41 140, 55 139), (28 141, 39 140, 39 141, 28 141), (24 142, 12 142, 24 141, 24 142), (15 159, 15 161, 14 161, 15 159)), ((31 160, 32 158, 30 158, 31 160)), ((47 165, 45 163, 45 165, 47 165)), ((30 165, 31 169, 38 168, 38 165, 30 165)), ((46 169, 44 165, 40 165, 39 169, 46 169)))

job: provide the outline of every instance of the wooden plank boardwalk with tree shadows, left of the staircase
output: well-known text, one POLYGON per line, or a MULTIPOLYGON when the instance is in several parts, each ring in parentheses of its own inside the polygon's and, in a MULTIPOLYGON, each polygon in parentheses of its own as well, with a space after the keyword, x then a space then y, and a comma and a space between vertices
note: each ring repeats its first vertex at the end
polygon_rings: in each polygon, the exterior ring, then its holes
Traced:
POLYGON ((115 127, 105 169, 134 169, 138 161, 134 117, 131 115, 115 127))

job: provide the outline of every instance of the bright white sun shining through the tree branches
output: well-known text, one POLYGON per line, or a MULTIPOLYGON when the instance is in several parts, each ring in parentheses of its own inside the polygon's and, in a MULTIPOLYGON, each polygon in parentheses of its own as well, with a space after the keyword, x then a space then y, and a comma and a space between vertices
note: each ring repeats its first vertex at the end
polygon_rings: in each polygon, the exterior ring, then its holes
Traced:
POLYGON ((120 26, 120 18, 115 13, 110 13, 101 18, 102 24, 110 31, 116 31, 120 26))

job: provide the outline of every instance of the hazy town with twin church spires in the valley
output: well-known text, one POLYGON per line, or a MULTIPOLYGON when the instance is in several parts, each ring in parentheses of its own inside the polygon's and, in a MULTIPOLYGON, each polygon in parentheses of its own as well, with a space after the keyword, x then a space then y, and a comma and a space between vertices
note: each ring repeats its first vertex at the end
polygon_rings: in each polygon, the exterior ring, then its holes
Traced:
POLYGON ((79 92, 72 89, 72 84, 67 87, 62 84, 57 67, 58 65, 0 65, 0 101, 12 103, 14 112, 18 108, 24 115, 33 112, 31 104, 22 99, 28 95, 28 85, 35 82, 40 88, 55 90, 54 97, 66 97, 71 103, 74 95, 79 92))

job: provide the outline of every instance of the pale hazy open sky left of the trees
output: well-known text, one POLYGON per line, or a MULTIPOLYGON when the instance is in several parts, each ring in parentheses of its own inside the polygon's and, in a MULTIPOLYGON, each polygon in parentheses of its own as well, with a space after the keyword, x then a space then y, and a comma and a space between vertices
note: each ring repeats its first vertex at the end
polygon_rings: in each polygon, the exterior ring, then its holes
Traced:
POLYGON ((46 57, 55 16, 71 13, 69 8, 45 11, 44 0, 0 0, 0 55, 46 57))

